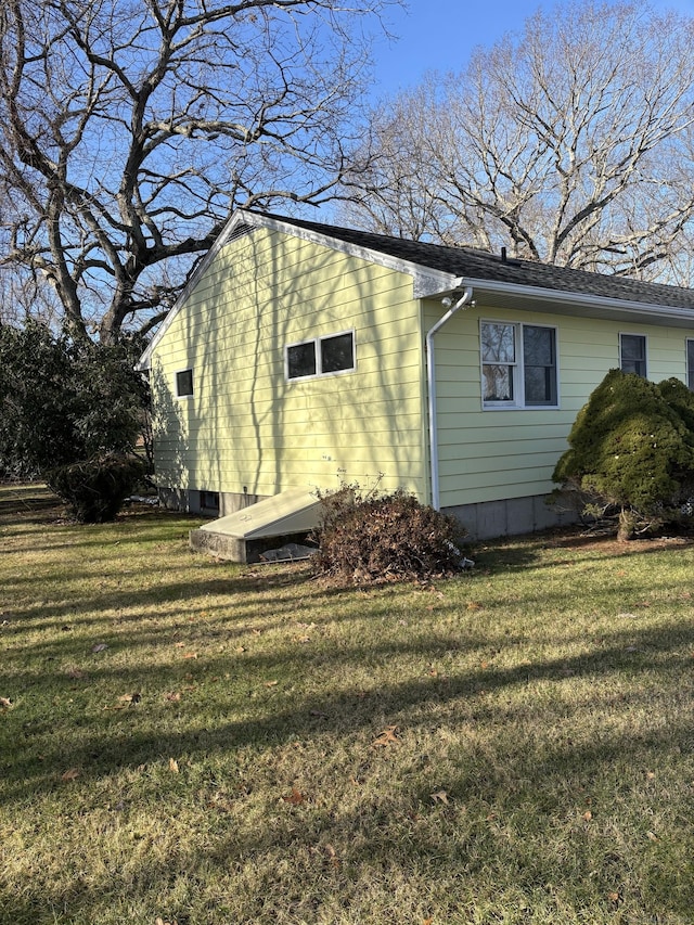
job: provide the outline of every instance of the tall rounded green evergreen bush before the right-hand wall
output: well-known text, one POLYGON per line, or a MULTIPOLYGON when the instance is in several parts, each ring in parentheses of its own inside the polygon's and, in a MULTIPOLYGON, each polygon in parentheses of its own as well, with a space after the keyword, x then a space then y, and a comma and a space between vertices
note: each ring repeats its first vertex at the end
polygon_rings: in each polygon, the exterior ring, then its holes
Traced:
POLYGON ((656 385, 611 370, 579 411, 553 479, 614 508, 619 536, 681 519, 694 493, 694 398, 678 380, 656 385))

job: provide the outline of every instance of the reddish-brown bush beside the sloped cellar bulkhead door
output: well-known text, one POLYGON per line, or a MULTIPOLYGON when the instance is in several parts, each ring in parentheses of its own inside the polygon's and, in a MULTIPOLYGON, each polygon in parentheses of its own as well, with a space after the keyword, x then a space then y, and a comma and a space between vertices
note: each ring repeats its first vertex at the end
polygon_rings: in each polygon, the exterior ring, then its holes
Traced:
POLYGON ((363 496, 346 485, 321 497, 319 551, 313 568, 323 575, 369 583, 430 578, 460 568, 461 525, 411 494, 363 496))

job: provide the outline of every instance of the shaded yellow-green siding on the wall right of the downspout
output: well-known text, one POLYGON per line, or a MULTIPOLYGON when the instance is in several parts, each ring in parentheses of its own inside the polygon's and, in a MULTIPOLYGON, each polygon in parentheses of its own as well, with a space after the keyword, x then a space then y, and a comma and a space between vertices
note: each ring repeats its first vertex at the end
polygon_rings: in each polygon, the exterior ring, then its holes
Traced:
MULTIPOLYGON (((425 323, 440 316, 427 303, 425 323)), ((691 330, 475 306, 437 337, 436 382, 440 501, 444 509, 548 494, 577 412, 608 370, 619 365, 619 333, 647 338, 648 378, 685 377, 691 330), (557 332, 558 408, 483 410, 480 320, 548 325, 557 332)), ((505 515, 504 515, 505 516, 505 515)), ((536 518, 537 519, 537 518, 536 518)), ((492 528, 496 529, 497 526, 492 528)), ((499 532, 505 532, 499 529, 499 532)))

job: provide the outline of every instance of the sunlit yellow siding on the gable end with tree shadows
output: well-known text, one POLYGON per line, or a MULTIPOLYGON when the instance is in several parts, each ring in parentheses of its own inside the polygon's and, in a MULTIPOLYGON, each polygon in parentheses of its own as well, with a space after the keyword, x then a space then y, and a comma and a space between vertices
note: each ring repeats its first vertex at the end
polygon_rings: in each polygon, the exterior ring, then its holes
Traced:
POLYGON ((267 497, 339 479, 423 497, 412 279, 257 229, 220 248, 153 350, 159 487, 267 497), (284 348, 355 332, 355 372, 285 381, 284 348), (193 369, 194 394, 175 396, 193 369))

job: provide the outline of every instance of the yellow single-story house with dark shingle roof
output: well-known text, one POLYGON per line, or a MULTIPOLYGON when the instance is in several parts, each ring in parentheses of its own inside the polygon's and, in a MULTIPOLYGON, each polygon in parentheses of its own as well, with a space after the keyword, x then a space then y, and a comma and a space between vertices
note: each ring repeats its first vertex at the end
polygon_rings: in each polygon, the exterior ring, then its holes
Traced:
POLYGON ((316 488, 377 483, 477 538, 555 523, 616 367, 694 387, 694 292, 246 210, 140 361, 165 503, 248 522, 282 496, 260 519, 288 534, 316 488))

